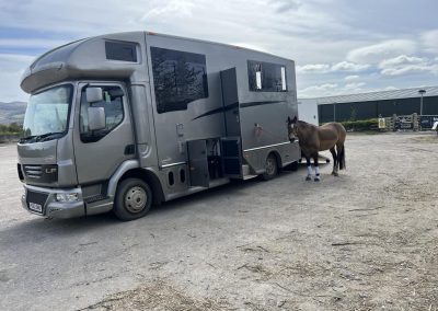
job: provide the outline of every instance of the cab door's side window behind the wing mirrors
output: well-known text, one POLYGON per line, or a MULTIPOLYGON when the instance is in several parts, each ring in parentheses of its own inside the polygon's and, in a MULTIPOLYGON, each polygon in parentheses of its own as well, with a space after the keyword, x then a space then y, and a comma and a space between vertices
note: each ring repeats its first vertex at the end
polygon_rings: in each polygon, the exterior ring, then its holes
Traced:
POLYGON ((96 103, 87 102, 85 88, 81 95, 81 113, 79 117, 79 131, 83 142, 94 142, 106 136, 124 118, 123 91, 119 87, 102 87, 104 100, 96 103), (89 107, 103 107, 105 110, 105 128, 100 130, 89 129, 89 107))

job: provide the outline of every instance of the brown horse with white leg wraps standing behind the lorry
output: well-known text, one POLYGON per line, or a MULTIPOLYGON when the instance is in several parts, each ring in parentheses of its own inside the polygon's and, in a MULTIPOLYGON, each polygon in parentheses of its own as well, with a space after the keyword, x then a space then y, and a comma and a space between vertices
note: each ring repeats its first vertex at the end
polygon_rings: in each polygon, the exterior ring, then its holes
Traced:
POLYGON ((319 151, 330 150, 330 152, 332 152, 332 175, 337 176, 338 170, 346 169, 344 142, 347 133, 342 124, 333 122, 318 127, 303 120, 298 120, 297 117, 293 117, 292 119, 288 117, 287 123, 289 139, 293 141, 295 137, 298 137, 301 152, 306 158, 308 164, 307 181, 310 181, 312 176, 310 158, 313 159, 313 164, 315 166, 314 181, 319 182, 321 180, 320 168, 318 165, 319 151))

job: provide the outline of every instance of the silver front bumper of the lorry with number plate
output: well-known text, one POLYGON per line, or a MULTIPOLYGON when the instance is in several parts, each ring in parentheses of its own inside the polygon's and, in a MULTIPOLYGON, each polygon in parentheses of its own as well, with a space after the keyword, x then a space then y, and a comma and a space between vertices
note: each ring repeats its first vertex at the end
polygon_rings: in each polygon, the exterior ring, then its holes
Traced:
POLYGON ((21 204, 23 208, 34 215, 50 217, 50 218, 73 218, 85 215, 85 205, 82 198, 81 188, 69 188, 69 189, 51 189, 36 186, 24 185, 25 193, 21 197, 21 204), (78 193, 78 200, 76 201, 57 201, 56 194, 59 193, 78 193), (36 203, 32 203, 33 198, 37 197, 36 203), (30 205, 33 205, 32 210, 30 205), (38 208, 35 208, 37 206, 38 208))

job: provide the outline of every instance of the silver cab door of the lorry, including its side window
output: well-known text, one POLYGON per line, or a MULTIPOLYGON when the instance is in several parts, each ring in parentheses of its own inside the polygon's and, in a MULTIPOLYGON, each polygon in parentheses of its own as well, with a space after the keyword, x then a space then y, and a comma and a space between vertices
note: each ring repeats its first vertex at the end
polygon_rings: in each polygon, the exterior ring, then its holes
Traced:
POLYGON ((73 145, 78 183, 105 182, 120 163, 135 157, 134 127, 126 89, 122 83, 83 83, 78 89, 77 99, 79 119, 74 123, 73 145), (87 88, 101 88, 103 100, 89 103, 87 88), (103 107, 103 129, 90 130, 89 107, 103 107))

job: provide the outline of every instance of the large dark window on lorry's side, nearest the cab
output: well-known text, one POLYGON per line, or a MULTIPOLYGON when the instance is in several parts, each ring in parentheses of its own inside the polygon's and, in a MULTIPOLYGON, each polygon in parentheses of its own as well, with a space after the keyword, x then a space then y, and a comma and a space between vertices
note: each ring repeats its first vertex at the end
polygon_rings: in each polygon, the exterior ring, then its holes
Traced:
POLYGON ((208 97, 206 57, 201 54, 151 47, 153 83, 159 114, 187 110, 208 97))

